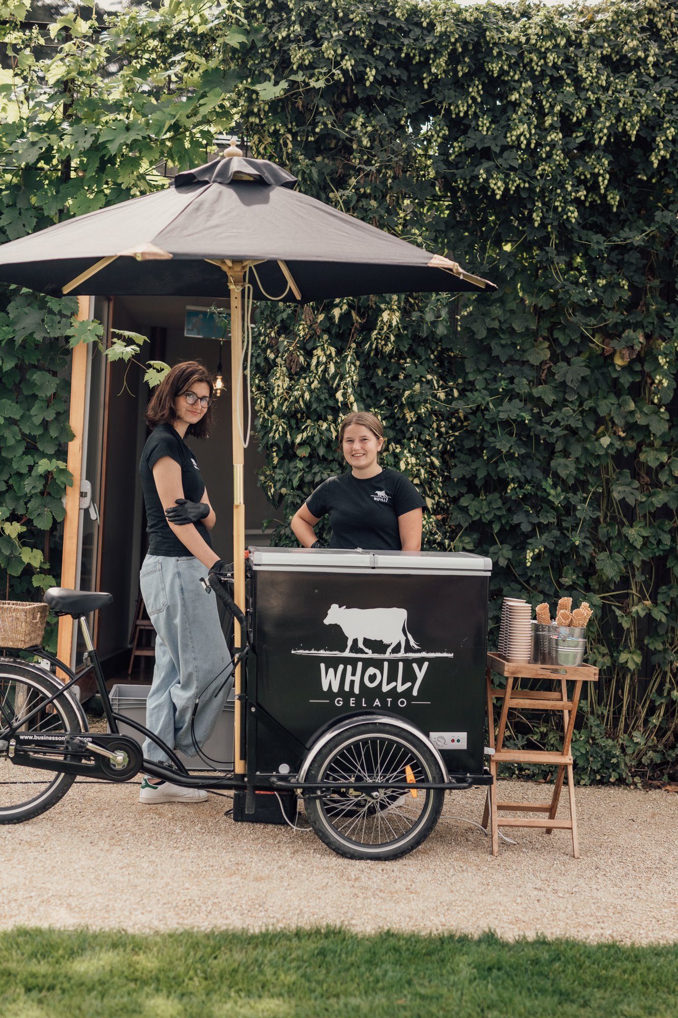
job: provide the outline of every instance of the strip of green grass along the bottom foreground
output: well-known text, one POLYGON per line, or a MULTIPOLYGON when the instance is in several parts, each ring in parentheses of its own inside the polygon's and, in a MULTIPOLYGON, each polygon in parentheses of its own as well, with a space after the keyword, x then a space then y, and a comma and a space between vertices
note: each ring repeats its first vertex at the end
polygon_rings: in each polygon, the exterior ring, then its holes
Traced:
POLYGON ((676 972, 678 945, 22 928, 0 934, 0 1015, 676 1018, 676 972))

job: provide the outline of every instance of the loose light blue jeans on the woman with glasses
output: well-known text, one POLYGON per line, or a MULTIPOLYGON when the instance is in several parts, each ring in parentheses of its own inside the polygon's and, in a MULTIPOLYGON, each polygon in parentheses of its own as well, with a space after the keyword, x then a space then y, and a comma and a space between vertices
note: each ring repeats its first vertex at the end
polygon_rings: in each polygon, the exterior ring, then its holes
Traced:
MULTIPOLYGON (((142 597, 156 630, 156 667, 146 705, 146 727, 170 749, 186 756, 202 748, 217 724, 233 685, 233 668, 219 621, 217 598, 206 593, 205 566, 188 555, 147 555, 142 565, 142 597), (216 678, 219 676, 219 678, 216 678), (212 680, 215 679, 213 682, 212 680), (215 693, 225 682, 218 696, 215 693)), ((162 749, 147 739, 144 755, 168 762, 162 749)))

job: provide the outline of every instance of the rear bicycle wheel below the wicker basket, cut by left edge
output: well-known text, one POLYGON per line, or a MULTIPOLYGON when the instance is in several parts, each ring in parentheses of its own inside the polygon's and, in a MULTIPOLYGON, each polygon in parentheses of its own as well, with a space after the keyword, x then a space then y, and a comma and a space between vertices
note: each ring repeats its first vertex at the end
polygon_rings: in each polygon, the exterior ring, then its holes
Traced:
POLYGON ((35 670, 0 663, 0 824, 20 824, 44 813, 75 781, 72 774, 20 767, 9 755, 15 733, 59 736, 82 731, 66 696, 46 703, 59 686, 59 681, 47 673, 38 676, 35 670), (29 720, 22 724, 22 718, 29 720))

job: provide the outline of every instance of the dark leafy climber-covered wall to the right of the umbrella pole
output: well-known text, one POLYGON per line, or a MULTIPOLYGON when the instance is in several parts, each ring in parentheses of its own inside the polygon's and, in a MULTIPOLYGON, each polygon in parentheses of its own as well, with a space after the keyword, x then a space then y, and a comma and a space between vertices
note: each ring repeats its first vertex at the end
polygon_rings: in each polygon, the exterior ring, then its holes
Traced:
MULTIPOLYGON (((287 521, 386 426, 429 548, 490 555, 503 595, 596 610, 580 778, 676 760, 678 11, 668 0, 459 8, 248 0, 259 156, 499 286, 263 313, 267 494, 287 521)), ((279 540, 289 540, 282 527, 279 540)), ((492 637, 491 637, 492 640, 492 637)), ((518 742, 545 728, 518 727, 518 742)), ((673 761, 673 762, 672 762, 673 761)))

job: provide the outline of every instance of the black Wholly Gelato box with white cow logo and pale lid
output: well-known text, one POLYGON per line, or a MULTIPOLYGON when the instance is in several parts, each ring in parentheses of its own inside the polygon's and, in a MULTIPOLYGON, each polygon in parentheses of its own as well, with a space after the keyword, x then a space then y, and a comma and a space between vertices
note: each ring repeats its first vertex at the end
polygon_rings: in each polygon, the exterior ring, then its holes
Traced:
POLYGON ((260 774, 295 773, 357 714, 406 719, 450 775, 483 771, 490 559, 251 548, 249 561, 260 774))

